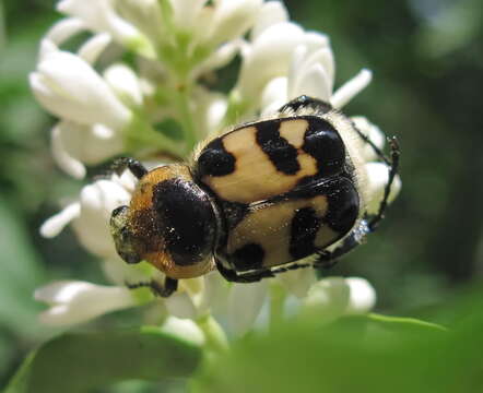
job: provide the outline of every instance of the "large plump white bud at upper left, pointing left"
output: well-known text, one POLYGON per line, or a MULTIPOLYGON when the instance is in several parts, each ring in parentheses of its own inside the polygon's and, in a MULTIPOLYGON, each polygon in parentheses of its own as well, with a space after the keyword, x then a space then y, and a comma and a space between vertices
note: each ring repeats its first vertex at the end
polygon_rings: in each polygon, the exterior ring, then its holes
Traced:
POLYGON ((81 123, 122 129, 131 120, 106 82, 80 57, 66 51, 46 53, 30 75, 38 102, 50 112, 81 123))

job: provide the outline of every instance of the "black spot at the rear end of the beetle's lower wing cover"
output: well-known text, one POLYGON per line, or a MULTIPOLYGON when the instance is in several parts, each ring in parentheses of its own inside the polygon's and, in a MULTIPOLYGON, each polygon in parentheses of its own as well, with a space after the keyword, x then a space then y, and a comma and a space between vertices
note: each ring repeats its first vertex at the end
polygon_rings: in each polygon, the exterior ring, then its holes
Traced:
POLYGON ((330 180, 327 189, 329 209, 323 222, 343 236, 351 230, 357 219, 358 193, 351 180, 343 177, 330 180))

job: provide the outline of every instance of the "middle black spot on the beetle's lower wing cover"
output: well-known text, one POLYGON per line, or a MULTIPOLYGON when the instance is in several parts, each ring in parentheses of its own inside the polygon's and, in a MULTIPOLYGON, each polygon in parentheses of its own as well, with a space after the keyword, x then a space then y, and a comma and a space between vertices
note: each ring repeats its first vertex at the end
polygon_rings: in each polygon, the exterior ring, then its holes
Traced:
POLYGON ((292 218, 288 248, 294 260, 310 255, 316 251, 315 239, 320 224, 320 218, 311 207, 303 207, 295 212, 292 218))

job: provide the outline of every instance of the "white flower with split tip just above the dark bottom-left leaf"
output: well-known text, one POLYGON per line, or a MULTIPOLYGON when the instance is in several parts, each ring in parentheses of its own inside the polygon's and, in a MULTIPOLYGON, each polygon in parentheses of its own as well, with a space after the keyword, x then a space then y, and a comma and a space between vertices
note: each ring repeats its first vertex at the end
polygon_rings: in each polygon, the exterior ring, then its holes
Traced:
POLYGON ((35 290, 35 299, 50 305, 42 312, 43 323, 64 326, 86 322, 104 313, 138 305, 133 294, 123 287, 64 281, 35 290))

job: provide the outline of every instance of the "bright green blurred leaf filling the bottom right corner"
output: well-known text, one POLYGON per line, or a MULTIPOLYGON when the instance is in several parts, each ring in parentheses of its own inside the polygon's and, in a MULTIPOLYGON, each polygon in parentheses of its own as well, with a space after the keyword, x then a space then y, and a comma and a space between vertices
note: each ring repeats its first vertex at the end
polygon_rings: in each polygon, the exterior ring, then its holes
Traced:
MULTIPOLYGON (((483 313, 480 311, 480 314, 483 313)), ((483 317, 455 331, 412 319, 316 320, 246 336, 191 383, 192 392, 483 391, 483 317)))

